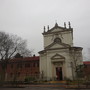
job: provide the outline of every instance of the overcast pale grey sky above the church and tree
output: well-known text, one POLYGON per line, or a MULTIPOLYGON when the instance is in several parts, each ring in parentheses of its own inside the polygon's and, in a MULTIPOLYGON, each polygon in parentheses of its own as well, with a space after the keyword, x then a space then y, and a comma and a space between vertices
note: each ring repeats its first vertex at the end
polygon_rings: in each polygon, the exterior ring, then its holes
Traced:
POLYGON ((37 54, 43 26, 71 22, 74 45, 90 48, 90 0, 0 0, 0 30, 16 34, 37 54))

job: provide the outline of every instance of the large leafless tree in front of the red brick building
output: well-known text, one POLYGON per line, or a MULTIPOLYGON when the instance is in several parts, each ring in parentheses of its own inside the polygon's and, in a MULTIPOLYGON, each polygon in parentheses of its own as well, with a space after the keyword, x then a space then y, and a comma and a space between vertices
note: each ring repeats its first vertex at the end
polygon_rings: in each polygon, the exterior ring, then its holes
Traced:
POLYGON ((5 72, 8 61, 20 53, 22 56, 31 56, 31 51, 27 49, 26 40, 16 35, 0 32, 0 63, 2 67, 1 81, 5 81, 5 72))

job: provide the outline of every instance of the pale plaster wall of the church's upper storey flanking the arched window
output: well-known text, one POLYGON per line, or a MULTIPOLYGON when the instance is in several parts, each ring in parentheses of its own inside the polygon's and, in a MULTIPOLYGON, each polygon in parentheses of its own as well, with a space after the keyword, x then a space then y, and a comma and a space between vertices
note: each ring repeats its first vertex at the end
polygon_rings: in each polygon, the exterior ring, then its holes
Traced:
MULTIPOLYGON (((73 46, 73 36, 71 31, 58 33, 62 43, 73 46)), ((44 48, 53 43, 56 38, 55 34, 44 35, 44 48)))

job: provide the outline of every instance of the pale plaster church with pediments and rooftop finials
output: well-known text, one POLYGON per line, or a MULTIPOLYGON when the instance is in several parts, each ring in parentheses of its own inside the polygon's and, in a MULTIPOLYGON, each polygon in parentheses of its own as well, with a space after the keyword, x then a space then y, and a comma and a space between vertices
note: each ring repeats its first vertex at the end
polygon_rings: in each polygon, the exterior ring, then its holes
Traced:
POLYGON ((73 45, 70 22, 61 27, 57 23, 42 33, 44 50, 40 51, 40 77, 43 80, 74 80, 76 67, 83 64, 82 47, 73 45))

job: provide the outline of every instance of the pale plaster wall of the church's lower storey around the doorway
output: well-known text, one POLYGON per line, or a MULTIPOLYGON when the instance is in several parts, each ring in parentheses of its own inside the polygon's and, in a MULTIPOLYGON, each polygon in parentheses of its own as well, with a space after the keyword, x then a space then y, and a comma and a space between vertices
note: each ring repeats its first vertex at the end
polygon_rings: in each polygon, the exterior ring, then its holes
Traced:
MULTIPOLYGON (((46 72, 45 73, 45 77, 47 77, 47 80, 53 79, 54 77, 56 77, 56 67, 62 67, 62 71, 63 71, 63 79, 64 78, 71 78, 72 77, 72 73, 71 73, 71 67, 70 67, 70 57, 68 55, 68 50, 55 50, 55 51, 48 51, 47 52, 47 56, 42 56, 43 60, 40 60, 41 63, 41 69, 46 72), (58 65, 54 65, 55 62, 57 61, 52 61, 51 58, 56 54, 60 54, 62 56, 65 57, 65 61, 63 61, 63 64, 58 64, 58 65), (47 58, 46 58, 47 57, 47 58), (47 61, 47 63, 46 63, 47 61)), ((42 59, 41 58, 41 59, 42 59)), ((60 60, 59 60, 60 61, 60 60)))

